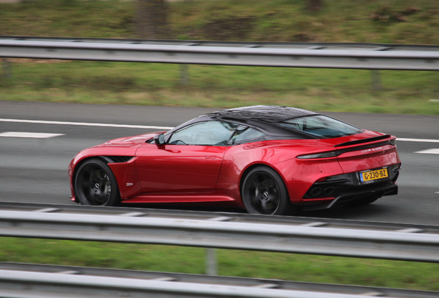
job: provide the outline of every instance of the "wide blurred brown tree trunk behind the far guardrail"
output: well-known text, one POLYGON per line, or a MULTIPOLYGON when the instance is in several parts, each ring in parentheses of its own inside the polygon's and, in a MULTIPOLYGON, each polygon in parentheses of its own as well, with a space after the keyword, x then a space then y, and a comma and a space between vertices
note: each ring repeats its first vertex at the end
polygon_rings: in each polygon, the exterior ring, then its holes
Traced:
POLYGON ((165 0, 137 0, 135 10, 137 37, 166 39, 168 8, 165 0))

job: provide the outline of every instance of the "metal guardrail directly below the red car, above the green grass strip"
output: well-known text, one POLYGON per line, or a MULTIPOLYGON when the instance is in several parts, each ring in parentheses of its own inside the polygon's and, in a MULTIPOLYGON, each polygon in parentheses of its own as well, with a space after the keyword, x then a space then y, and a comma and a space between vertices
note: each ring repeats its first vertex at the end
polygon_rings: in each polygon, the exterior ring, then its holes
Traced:
POLYGON ((128 208, 119 215, 112 214, 111 208, 107 214, 106 208, 82 208, 81 214, 59 212, 62 208, 39 208, 38 212, 0 210, 0 236, 439 262, 438 228, 431 226, 400 226, 391 231, 358 225, 325 227, 320 220, 297 225, 257 216, 248 217, 251 221, 234 221, 233 215, 227 214, 191 219, 185 213, 167 218, 155 216, 150 210, 128 208), (257 222, 260 218, 264 220, 257 222))

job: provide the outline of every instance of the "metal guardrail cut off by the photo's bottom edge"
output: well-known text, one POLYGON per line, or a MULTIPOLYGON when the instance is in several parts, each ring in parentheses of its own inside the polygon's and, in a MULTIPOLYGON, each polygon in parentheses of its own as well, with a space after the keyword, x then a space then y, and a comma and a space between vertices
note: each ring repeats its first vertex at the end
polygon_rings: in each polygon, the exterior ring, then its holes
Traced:
POLYGON ((166 272, 0 263, 1 297, 395 297, 438 292, 166 272), (104 284, 106 283, 106 284, 104 284), (62 288, 59 287, 62 284, 62 288), (195 292, 195 290, 197 292, 195 292), (69 293, 66 296, 66 293, 69 293), (155 296, 154 296, 155 295, 155 296))

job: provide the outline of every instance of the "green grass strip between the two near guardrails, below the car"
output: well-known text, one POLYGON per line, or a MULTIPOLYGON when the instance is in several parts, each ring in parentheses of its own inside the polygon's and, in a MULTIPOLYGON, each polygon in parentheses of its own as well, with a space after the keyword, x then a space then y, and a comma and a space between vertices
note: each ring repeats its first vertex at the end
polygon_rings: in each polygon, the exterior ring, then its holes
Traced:
MULTIPOLYGON (((1 238, 0 261, 204 274, 204 248, 1 238)), ((217 250, 219 275, 439 290, 439 264, 217 250)))

